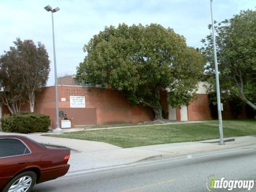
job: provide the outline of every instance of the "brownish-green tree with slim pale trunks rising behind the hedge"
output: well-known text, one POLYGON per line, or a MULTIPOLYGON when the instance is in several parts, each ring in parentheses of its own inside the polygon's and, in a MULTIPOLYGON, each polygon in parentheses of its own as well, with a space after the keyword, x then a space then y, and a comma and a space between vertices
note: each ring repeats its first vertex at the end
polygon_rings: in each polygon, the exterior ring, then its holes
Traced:
POLYGON ((0 58, 1 98, 7 106, 16 106, 19 101, 19 107, 9 107, 13 114, 25 102, 29 102, 30 111, 34 112, 36 94, 46 85, 49 76, 49 57, 41 43, 36 46, 32 40, 17 38, 14 45, 0 58))

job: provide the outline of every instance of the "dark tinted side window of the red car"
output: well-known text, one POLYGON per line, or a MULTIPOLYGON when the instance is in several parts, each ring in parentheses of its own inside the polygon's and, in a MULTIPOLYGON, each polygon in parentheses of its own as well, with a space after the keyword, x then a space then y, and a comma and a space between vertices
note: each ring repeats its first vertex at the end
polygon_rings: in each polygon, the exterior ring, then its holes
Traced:
POLYGON ((18 139, 0 139, 0 158, 30 154, 29 149, 18 139))

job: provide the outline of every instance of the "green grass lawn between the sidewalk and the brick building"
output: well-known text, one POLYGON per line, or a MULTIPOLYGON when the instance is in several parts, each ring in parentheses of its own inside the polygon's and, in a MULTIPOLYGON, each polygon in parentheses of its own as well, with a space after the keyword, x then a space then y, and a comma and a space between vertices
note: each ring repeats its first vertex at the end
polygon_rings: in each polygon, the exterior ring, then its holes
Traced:
MULTIPOLYGON (((256 135, 256 120, 223 121, 224 137, 256 135)), ((219 138, 218 121, 191 124, 152 125, 92 130, 50 135, 70 139, 102 141, 119 147, 138 147, 163 143, 200 141, 219 138)))

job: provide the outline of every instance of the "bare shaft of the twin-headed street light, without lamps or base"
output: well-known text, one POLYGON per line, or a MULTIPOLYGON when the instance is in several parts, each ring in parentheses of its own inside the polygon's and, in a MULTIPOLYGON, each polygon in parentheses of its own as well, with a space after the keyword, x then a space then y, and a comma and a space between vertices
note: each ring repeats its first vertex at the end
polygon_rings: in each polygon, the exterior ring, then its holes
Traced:
POLYGON ((60 130, 59 121, 59 96, 58 96, 58 79, 57 79, 57 66, 55 54, 55 38, 54 38, 54 21, 52 12, 52 41, 53 41, 53 57, 54 57, 54 75, 55 75, 55 113, 56 113, 56 131, 60 130))

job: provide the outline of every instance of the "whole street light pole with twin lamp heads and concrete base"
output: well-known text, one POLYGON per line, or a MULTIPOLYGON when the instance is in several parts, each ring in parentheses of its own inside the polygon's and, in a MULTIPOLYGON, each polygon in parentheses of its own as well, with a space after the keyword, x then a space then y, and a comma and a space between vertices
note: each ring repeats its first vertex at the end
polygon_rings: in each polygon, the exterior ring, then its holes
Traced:
POLYGON ((59 11, 59 7, 52 9, 50 5, 44 7, 46 11, 51 11, 52 13, 52 41, 53 41, 53 57, 54 57, 54 76, 55 76, 55 115, 56 115, 56 129, 53 130, 53 133, 61 134, 63 131, 60 129, 59 121, 59 97, 58 97, 58 79, 57 79, 57 66, 56 66, 56 54, 55 54, 55 39, 54 39, 54 21, 53 13, 59 11))

